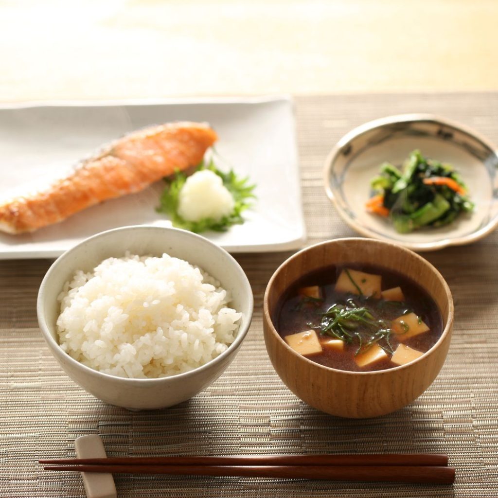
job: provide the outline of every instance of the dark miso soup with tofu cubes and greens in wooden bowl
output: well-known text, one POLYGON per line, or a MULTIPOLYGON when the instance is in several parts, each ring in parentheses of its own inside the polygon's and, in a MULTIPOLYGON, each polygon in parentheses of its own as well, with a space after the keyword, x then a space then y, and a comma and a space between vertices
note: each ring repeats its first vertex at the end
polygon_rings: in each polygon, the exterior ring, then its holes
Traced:
POLYGON ((339 370, 385 370, 416 360, 443 331, 428 293, 372 265, 330 266, 299 279, 272 317, 299 354, 339 370))

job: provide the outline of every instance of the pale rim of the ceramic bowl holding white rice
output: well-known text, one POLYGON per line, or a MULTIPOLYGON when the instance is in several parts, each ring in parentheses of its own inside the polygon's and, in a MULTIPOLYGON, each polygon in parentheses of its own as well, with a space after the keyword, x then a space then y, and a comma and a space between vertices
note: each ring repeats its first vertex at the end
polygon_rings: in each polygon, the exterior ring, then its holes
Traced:
MULTIPOLYGON (((127 249, 125 249, 124 252, 126 250, 127 249)), ((121 254, 121 256, 108 256, 108 257, 124 257, 124 252, 123 252, 123 254, 121 254)), ((168 253, 167 251, 164 251, 164 252, 168 253)), ((150 253, 149 254, 144 254, 144 255, 152 255, 152 256, 154 256, 153 254, 150 254, 150 253)), ((159 256, 155 256, 155 257, 159 257, 159 256)), ((178 256, 172 256, 172 257, 178 257, 178 256)), ((187 261, 190 265, 194 265, 195 264, 196 266, 201 267, 201 269, 204 272, 206 272, 206 270, 204 268, 202 268, 202 266, 197 265, 196 263, 191 263, 190 261, 188 261, 188 259, 184 259, 184 261, 187 261)), ((95 267, 93 269, 95 269, 95 267)), ((71 272, 70 272, 70 277, 71 278, 72 278, 72 276, 74 276, 74 272, 75 271, 76 271, 76 269, 71 270, 71 272)), ((210 276, 212 276, 213 278, 215 278, 216 280, 220 281, 216 275, 211 275, 211 273, 208 273, 208 274, 210 276)), ((220 283, 221 283, 221 281, 220 281, 220 283)), ((59 293, 60 293, 60 289, 58 290, 57 294, 59 294, 59 293)), ((82 242, 78 243, 77 245, 73 246, 71 249, 68 249, 66 252, 64 252, 63 254, 61 254, 51 264, 50 268, 46 272, 46 274, 43 277, 43 280, 42 280, 42 282, 40 284, 40 288, 39 288, 39 291, 38 291, 37 302, 36 302, 36 311, 37 311, 37 314, 38 314, 38 322, 39 322, 40 330, 41 330, 41 332, 43 334, 43 337, 49 343, 49 346, 52 346, 54 349, 57 349, 64 356, 64 360, 65 361, 67 361, 67 362, 75 365, 77 368, 80 368, 80 369, 84 370, 88 374, 95 375, 95 376, 98 376, 98 377, 100 377, 100 376, 109 377, 109 378, 112 378, 116 382, 123 382, 123 383, 126 383, 126 384, 129 384, 129 383, 141 384, 141 383, 152 383, 152 382, 165 382, 165 381, 167 381, 168 379, 171 379, 171 378, 178 379, 180 377, 188 377, 190 375, 193 375, 194 373, 197 374, 197 373, 199 373, 199 372, 201 372, 203 370, 207 370, 214 363, 221 362, 226 356, 229 356, 234 349, 237 349, 239 347, 239 345, 243 342, 244 338, 246 337, 246 335, 247 335, 247 333, 249 331, 250 322, 252 320, 253 307, 254 307, 254 300, 253 300, 252 290, 251 290, 251 287, 250 287, 249 280, 248 280, 248 278, 247 278, 244 270, 240 266, 240 264, 237 262, 237 260, 229 252, 227 252, 225 249, 221 248, 220 246, 216 245, 215 243, 211 242, 209 239, 206 239, 205 237, 202 237, 202 236, 200 236, 198 234, 195 234, 193 232, 188 232, 186 230, 176 229, 176 228, 170 228, 170 227, 156 227, 156 226, 147 226, 147 225, 132 225, 132 226, 128 226, 128 227, 120 227, 120 228, 115 228, 115 229, 112 229, 112 230, 107 230, 105 232, 101 232, 99 234, 96 234, 96 235, 93 235, 91 237, 88 237, 84 241, 82 241, 82 242), (248 313, 247 313, 248 316, 246 316, 246 313, 242 314, 242 317, 241 317, 240 323, 239 323, 239 327, 236 329, 236 336, 235 336, 234 341, 230 345, 228 345, 227 349, 225 351, 223 351, 222 353, 220 353, 217 357, 215 357, 215 358, 209 360, 208 362, 206 362, 205 364, 200 365, 199 367, 195 367, 192 370, 189 370, 187 372, 174 373, 174 374, 166 375, 166 376, 163 376, 163 377, 147 377, 147 378, 121 377, 119 375, 113 375, 111 373, 105 373, 105 372, 101 372, 99 370, 95 370, 95 369, 93 369, 91 367, 88 367, 87 365, 84 365, 83 363, 79 362, 78 360, 75 360, 73 357, 71 357, 68 353, 66 353, 61 348, 61 345, 52 336, 52 334, 50 332, 51 327, 47 323, 47 319, 46 319, 45 312, 44 312, 44 301, 46 299, 45 296, 44 296, 44 294, 45 294, 45 287, 47 285, 47 281, 52 276, 52 273, 54 273, 55 271, 58 271, 58 268, 61 265, 64 265, 64 263, 66 262, 66 260, 70 259, 71 256, 72 256, 72 253, 76 249, 78 249, 80 246, 87 245, 87 244, 91 243, 92 241, 95 241, 95 240, 100 239, 100 238, 109 237, 109 234, 112 234, 112 233, 121 232, 121 231, 132 231, 134 229, 145 229, 145 230, 147 230, 147 229, 158 230, 159 229, 159 230, 168 230, 168 231, 182 232, 182 236, 185 236, 186 238, 191 238, 193 241, 195 241, 197 243, 206 244, 206 245, 213 246, 214 248, 218 249, 220 251, 220 254, 223 254, 226 258, 228 258, 230 260, 230 262, 234 264, 234 268, 236 269, 236 271, 243 276, 242 280, 244 281, 244 285, 246 287, 245 291, 249 291, 249 292, 246 292, 248 294, 248 296, 249 296, 249 309, 248 309, 248 313), (244 325, 245 321, 247 323, 244 325)), ((60 312, 58 311, 57 313, 59 314, 60 312)))

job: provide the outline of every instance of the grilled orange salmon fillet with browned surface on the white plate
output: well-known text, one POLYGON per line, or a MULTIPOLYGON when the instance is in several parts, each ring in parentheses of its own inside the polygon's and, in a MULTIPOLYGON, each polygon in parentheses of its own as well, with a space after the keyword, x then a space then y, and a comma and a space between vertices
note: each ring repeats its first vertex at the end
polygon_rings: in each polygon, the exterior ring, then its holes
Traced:
POLYGON ((49 188, 0 205, 0 230, 32 232, 65 220, 82 209, 138 192, 199 164, 217 136, 207 124, 172 123, 125 135, 80 163, 49 188))

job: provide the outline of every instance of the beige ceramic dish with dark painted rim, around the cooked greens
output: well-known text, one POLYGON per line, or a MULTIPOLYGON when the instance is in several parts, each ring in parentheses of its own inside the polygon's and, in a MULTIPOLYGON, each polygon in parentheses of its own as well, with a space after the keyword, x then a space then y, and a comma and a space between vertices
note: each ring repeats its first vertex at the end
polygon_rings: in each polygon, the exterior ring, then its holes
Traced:
POLYGON ((497 149, 486 138, 437 116, 407 114, 363 124, 341 138, 325 162, 324 184, 340 216, 360 234, 429 251, 475 242, 497 227, 497 170, 497 149), (454 166, 475 203, 474 212, 445 227, 399 234, 388 219, 366 211, 379 165, 401 165, 414 149, 454 166))

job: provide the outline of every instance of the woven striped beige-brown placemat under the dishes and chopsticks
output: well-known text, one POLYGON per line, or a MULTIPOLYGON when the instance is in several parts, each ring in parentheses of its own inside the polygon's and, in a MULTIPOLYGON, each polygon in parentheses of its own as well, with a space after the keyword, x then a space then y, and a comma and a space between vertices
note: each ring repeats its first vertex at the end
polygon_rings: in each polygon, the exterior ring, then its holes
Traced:
MULTIPOLYGON (((498 94, 296 98, 308 244, 356 235, 322 187, 335 142, 366 121, 436 113, 498 143, 498 94)), ((74 439, 98 433, 109 455, 439 452, 457 469, 453 487, 249 478, 117 476, 120 497, 491 497, 498 496, 498 232, 467 247, 424 254, 455 300, 450 353, 410 406, 369 420, 316 411, 282 384, 266 357, 261 302, 289 255, 242 254, 255 297, 251 329, 231 367, 173 408, 130 412, 107 405, 59 368, 38 331, 35 300, 48 260, 0 262, 0 497, 84 497, 79 474, 43 471, 38 458, 74 456, 74 439)))

